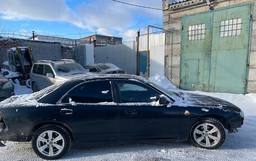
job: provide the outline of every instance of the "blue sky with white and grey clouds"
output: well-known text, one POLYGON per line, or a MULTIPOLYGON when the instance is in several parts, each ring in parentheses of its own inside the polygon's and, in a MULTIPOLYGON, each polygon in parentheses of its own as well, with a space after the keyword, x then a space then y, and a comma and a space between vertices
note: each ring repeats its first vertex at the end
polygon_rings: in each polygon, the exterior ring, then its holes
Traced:
MULTIPOLYGON (((162 0, 119 1, 162 8, 162 0)), ((130 41, 135 40, 139 28, 162 25, 162 11, 111 0, 0 0, 0 21, 0 32, 35 31, 36 34, 74 39, 97 32, 130 41)))

